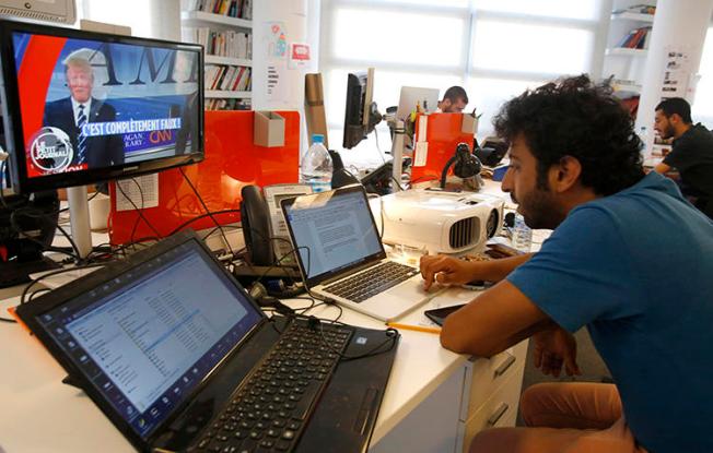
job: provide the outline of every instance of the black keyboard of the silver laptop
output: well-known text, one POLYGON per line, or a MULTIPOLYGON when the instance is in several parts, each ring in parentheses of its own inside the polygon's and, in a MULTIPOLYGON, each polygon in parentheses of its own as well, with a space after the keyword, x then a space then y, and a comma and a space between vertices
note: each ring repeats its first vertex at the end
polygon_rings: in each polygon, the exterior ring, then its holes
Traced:
POLYGON ((325 290, 353 302, 363 302, 418 273, 419 271, 414 267, 395 261, 386 261, 366 272, 329 285, 325 287, 325 290))

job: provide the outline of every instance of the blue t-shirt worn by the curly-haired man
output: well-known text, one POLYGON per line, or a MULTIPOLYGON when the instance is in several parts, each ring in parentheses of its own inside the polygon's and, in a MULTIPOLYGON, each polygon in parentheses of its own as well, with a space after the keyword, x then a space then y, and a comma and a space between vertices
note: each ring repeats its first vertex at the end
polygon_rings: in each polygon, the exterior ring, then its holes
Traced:
POLYGON ((650 174, 572 210, 507 276, 570 332, 586 325, 652 452, 713 452, 713 220, 650 174))

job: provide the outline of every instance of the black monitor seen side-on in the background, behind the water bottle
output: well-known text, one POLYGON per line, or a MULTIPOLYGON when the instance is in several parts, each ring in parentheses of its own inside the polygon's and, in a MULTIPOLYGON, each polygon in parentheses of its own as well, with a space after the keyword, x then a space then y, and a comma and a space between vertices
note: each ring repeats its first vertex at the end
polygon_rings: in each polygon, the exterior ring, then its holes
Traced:
POLYGON ((347 107, 344 109, 344 138, 342 146, 351 150, 356 146, 376 124, 382 115, 373 102, 374 68, 366 72, 354 72, 347 76, 347 107))

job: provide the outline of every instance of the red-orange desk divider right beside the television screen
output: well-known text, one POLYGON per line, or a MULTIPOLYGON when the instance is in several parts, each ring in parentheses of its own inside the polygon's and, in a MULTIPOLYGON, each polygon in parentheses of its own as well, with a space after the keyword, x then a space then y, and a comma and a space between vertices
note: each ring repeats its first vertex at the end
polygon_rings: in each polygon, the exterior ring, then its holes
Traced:
MULTIPOLYGON (((285 121, 284 146, 265 147, 253 144, 255 112, 206 111, 206 158, 200 164, 183 167, 183 171, 219 224, 239 222, 241 190, 244 186, 297 182, 300 114, 278 114, 285 121)), ((114 182, 109 191, 112 210, 108 233, 113 245, 153 238, 156 236, 154 228, 161 237, 165 237, 186 227, 214 227, 213 220, 204 216, 206 210, 178 168, 159 174, 159 206, 141 210, 143 218, 137 210, 116 211, 117 189, 114 182), (200 216, 204 217, 198 218, 200 216)))

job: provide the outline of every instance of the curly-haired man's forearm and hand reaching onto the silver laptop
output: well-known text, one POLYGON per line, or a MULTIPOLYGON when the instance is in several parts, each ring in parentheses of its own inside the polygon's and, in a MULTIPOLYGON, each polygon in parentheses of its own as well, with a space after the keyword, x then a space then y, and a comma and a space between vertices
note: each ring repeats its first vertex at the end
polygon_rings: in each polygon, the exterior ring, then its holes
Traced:
POLYGON ((474 279, 500 282, 515 267, 530 259, 533 253, 490 261, 465 261, 447 255, 421 257, 423 287, 429 289, 433 283, 464 284, 474 279))

